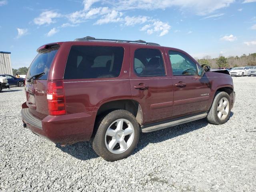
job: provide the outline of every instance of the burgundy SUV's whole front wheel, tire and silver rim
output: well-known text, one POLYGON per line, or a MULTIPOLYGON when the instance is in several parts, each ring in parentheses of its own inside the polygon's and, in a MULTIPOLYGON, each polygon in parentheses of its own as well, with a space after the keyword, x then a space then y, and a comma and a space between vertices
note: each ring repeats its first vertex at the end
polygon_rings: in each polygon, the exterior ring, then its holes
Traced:
POLYGON ((227 122, 231 111, 231 100, 226 92, 216 92, 212 107, 207 115, 208 122, 216 125, 227 122))

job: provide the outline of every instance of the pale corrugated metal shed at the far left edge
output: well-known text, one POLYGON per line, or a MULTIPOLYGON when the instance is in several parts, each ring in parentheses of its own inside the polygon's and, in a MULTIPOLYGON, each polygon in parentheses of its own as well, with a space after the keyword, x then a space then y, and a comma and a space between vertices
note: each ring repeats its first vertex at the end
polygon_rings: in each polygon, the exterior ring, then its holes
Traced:
POLYGON ((0 74, 12 74, 11 52, 0 51, 0 74))

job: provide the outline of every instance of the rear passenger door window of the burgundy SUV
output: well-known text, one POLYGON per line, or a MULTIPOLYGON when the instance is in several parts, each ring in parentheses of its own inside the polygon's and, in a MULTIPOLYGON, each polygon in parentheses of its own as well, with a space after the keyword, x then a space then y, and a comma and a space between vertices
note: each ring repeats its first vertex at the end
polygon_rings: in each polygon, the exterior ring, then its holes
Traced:
POLYGON ((164 61, 160 50, 137 49, 134 52, 134 72, 141 77, 165 76, 164 61))

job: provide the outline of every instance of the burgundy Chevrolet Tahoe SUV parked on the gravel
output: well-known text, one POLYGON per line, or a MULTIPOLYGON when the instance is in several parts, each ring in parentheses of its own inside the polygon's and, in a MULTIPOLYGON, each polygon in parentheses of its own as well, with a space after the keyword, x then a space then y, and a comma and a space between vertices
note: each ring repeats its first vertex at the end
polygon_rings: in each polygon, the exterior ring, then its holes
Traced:
POLYGON ((226 70, 210 72, 176 48, 86 37, 37 51, 26 76, 24 127, 64 146, 92 139, 108 161, 127 157, 140 132, 201 118, 223 124, 234 105, 226 70))

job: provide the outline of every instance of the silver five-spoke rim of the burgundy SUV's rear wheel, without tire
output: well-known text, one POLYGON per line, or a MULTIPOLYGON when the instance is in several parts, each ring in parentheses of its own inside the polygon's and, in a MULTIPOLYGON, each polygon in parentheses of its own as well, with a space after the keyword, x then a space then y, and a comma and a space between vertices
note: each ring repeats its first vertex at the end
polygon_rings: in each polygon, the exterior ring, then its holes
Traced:
POLYGON ((115 120, 105 134, 106 148, 114 154, 125 152, 134 140, 134 127, 127 119, 115 120))

